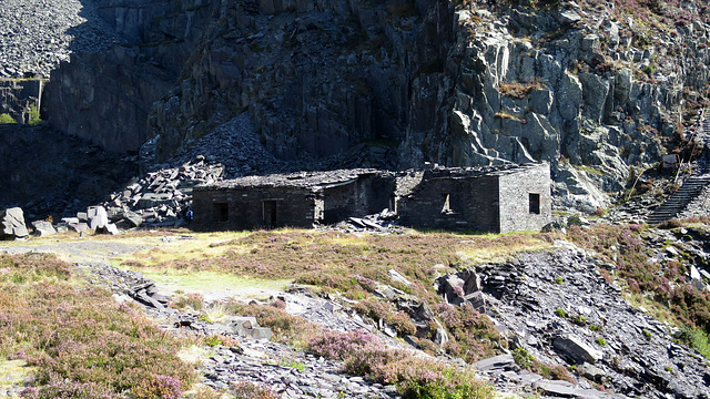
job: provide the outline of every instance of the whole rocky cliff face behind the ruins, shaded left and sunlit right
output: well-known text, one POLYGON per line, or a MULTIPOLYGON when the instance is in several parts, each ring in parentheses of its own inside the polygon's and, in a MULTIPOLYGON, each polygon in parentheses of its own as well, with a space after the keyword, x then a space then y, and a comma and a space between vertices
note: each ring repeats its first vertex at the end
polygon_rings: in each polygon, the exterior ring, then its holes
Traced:
POLYGON ((131 44, 75 55, 47 102, 104 146, 149 140, 149 162, 243 112, 284 160, 544 160, 591 209, 682 146, 704 101, 707 6, 673 4, 100 0, 131 44))

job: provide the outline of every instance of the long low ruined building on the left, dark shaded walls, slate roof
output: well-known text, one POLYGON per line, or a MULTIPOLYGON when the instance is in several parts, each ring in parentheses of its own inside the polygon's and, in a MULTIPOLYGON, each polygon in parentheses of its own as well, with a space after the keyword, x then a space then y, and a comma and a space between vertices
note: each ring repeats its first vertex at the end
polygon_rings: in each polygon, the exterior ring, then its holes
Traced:
POLYGON ((377 170, 247 176, 193 191, 193 228, 312 227, 390 207, 395 175, 377 170))

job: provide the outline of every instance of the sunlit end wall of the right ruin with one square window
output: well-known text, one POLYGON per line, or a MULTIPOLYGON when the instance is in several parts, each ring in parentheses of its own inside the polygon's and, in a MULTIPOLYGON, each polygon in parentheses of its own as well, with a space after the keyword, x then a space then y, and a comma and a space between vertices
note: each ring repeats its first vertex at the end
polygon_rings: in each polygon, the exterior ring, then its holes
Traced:
POLYGON ((549 164, 498 180, 500 233, 539 231, 552 217, 549 164))

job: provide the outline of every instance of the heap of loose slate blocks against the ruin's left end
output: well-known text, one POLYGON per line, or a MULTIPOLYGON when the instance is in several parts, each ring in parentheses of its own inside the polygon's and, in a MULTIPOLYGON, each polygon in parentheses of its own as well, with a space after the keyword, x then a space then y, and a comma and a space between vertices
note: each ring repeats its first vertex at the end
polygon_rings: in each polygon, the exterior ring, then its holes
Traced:
POLYGON ((186 212, 192 204, 192 188, 220 181, 224 174, 224 165, 197 155, 179 167, 133 178, 123 191, 111 194, 103 206, 109 219, 121 228, 184 225, 189 223, 186 212))

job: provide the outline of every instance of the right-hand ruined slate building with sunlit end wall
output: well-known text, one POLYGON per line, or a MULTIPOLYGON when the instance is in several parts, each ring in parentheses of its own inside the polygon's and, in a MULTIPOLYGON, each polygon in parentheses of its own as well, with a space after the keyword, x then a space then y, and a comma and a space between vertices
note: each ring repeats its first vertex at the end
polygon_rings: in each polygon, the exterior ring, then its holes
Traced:
POLYGON ((539 231, 551 218, 547 163, 435 167, 399 192, 396 213, 405 226, 508 233, 539 231))

